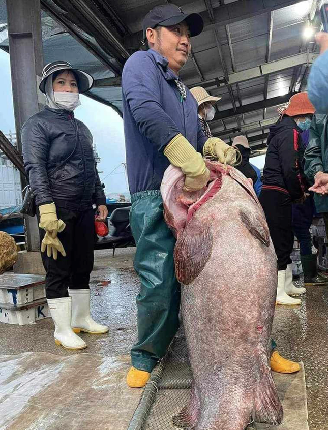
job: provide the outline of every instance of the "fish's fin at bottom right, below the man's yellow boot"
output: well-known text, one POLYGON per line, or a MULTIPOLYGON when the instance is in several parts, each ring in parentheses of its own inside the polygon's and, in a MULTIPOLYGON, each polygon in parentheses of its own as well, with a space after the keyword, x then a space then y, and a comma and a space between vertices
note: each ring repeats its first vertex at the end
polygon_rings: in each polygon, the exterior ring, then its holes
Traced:
POLYGON ((261 362, 260 368, 262 368, 262 377, 255 390, 254 419, 258 423, 279 425, 283 420, 284 413, 270 366, 261 362))

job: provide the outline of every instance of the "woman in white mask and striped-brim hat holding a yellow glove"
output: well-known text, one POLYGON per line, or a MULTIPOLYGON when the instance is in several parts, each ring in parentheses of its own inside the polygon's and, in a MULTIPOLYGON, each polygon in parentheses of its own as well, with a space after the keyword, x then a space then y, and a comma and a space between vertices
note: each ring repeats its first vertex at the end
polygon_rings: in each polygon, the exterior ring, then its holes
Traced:
POLYGON ((105 220, 106 198, 92 135, 73 113, 81 104, 79 93, 92 85, 92 76, 70 63, 48 64, 40 83, 46 107, 28 118, 21 130, 24 166, 38 207, 54 339, 57 345, 74 350, 86 347, 75 333, 108 331, 91 318, 89 288, 94 263, 93 204, 105 220))

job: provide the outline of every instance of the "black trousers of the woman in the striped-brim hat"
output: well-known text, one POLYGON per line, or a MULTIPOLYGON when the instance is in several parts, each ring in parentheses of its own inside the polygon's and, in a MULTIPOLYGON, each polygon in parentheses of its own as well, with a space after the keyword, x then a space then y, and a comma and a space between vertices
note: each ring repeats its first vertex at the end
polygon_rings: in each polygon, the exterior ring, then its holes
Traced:
MULTIPOLYGON (((64 231, 58 233, 66 257, 58 252, 58 259, 54 260, 47 256, 47 250, 41 253, 46 270, 46 297, 49 299, 68 297, 68 288, 89 288, 90 273, 94 266, 94 210, 73 211, 57 207, 57 216, 66 224, 64 231)), ((40 222, 39 211, 37 217, 40 222)), ((39 229, 39 234, 41 246, 45 231, 39 229)))

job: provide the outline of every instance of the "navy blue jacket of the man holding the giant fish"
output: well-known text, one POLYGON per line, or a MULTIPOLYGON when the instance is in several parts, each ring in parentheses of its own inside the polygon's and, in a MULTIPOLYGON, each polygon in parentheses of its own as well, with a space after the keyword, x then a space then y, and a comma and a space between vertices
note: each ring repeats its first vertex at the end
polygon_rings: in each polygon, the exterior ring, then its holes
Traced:
POLYGON ((122 74, 123 118, 130 193, 158 190, 165 169, 165 146, 181 133, 202 152, 207 137, 198 105, 188 88, 183 99, 174 72, 158 52, 135 52, 122 74))

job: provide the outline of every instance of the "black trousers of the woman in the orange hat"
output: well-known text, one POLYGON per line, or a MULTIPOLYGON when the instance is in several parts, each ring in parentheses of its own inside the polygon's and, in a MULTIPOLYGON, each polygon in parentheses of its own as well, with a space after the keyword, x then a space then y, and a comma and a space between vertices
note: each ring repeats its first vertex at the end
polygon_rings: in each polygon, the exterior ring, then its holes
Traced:
POLYGON ((262 190, 259 201, 277 254, 278 270, 286 270, 287 264, 292 262, 290 254, 294 245, 291 199, 279 191, 262 190))

